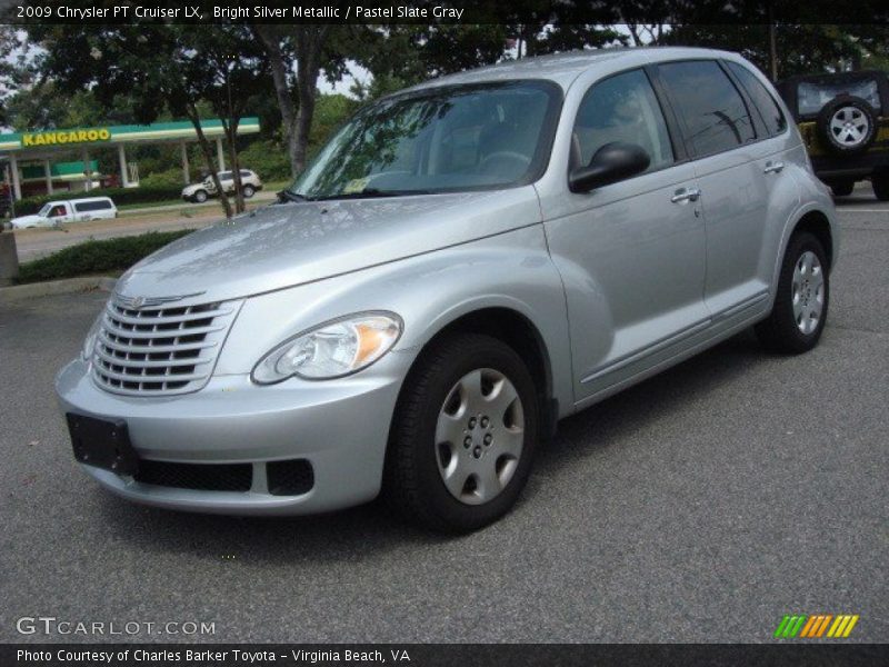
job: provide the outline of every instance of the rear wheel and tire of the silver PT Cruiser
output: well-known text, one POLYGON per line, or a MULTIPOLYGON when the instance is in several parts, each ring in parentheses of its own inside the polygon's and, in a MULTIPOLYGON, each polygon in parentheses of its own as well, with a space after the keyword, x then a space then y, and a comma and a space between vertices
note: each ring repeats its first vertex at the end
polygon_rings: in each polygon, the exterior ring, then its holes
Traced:
POLYGON ((809 232, 790 238, 769 317, 756 327, 763 347, 808 352, 821 338, 830 301, 830 276, 821 242, 809 232))

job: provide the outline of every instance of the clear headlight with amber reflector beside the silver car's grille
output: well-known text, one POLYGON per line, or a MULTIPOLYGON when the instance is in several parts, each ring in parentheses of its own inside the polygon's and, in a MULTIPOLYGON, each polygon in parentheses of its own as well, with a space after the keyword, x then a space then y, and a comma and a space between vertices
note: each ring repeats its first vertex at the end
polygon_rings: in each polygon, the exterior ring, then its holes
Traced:
POLYGON ((253 368, 253 381, 271 385, 292 376, 327 380, 358 372, 392 349, 401 327, 401 318, 392 312, 361 312, 326 322, 266 355, 253 368))

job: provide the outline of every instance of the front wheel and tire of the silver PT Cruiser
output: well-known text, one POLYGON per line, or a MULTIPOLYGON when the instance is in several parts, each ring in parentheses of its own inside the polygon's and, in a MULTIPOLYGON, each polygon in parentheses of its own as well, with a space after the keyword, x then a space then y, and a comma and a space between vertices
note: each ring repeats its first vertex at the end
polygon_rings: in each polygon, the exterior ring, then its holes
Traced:
POLYGON ((507 514, 531 470, 540 409, 521 358, 489 336, 449 336, 406 380, 383 496, 413 524, 470 532, 507 514))

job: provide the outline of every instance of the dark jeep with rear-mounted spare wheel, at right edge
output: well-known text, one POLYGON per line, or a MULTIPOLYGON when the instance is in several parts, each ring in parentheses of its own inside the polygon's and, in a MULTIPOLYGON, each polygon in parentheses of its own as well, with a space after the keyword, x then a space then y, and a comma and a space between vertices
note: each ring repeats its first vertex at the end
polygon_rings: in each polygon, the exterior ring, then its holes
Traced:
POLYGON ((838 197, 870 179, 889 200, 889 80, 867 70, 792 77, 778 90, 811 156, 815 172, 838 197))

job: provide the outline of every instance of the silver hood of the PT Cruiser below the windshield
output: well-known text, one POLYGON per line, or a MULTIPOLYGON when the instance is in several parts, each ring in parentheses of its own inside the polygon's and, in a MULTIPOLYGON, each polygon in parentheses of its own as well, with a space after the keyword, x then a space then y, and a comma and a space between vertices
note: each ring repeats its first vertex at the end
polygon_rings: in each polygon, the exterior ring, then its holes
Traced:
POLYGON ((321 280, 541 220, 532 186, 386 199, 293 202, 222 221, 127 271, 129 297, 218 301, 321 280))

